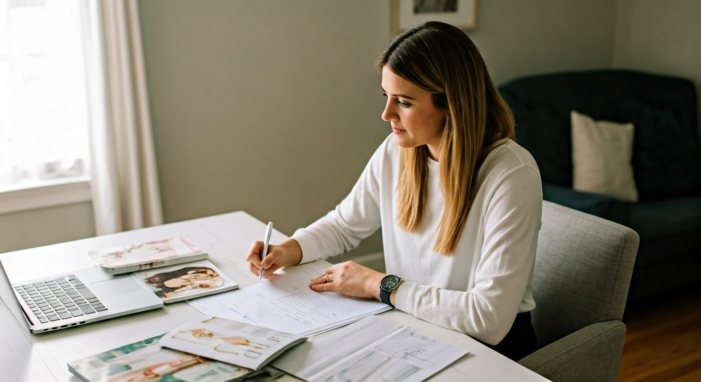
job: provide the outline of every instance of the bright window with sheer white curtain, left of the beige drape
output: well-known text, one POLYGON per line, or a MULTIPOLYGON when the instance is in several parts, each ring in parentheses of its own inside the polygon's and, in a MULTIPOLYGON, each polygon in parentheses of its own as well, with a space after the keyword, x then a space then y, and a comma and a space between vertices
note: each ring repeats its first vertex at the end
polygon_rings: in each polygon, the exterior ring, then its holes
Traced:
POLYGON ((0 0, 0 192, 88 180, 79 0, 0 0))

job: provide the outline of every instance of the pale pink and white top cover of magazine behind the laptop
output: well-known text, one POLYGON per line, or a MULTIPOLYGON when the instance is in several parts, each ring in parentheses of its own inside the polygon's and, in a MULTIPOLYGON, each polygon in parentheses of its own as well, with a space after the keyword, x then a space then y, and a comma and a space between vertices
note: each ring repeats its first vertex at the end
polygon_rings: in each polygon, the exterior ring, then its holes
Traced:
POLYGON ((170 238, 88 252, 93 263, 119 268, 203 253, 184 238, 170 238))

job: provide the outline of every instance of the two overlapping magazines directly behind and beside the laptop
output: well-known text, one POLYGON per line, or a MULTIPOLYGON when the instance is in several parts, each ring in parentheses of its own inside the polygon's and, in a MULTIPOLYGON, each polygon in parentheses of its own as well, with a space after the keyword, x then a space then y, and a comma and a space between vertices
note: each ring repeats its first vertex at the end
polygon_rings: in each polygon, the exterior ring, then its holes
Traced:
POLYGON ((207 259, 207 253, 185 238, 169 238, 88 252, 93 263, 114 275, 132 273, 164 303, 237 289, 207 259))

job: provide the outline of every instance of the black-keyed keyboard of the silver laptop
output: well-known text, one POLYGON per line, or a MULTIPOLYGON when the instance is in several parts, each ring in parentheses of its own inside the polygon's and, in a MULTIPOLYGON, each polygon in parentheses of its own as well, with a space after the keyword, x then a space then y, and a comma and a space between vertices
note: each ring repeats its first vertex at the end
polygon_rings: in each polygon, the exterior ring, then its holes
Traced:
POLYGON ((107 311, 107 307, 74 275, 15 285, 15 289, 42 324, 107 311))

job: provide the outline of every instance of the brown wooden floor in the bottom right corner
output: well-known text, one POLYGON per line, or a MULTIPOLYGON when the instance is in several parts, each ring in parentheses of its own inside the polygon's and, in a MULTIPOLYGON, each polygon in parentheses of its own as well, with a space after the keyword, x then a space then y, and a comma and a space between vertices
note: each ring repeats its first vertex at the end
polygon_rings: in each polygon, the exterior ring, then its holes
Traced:
POLYGON ((692 289, 627 309, 619 382, 701 381, 701 285, 692 289))

